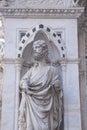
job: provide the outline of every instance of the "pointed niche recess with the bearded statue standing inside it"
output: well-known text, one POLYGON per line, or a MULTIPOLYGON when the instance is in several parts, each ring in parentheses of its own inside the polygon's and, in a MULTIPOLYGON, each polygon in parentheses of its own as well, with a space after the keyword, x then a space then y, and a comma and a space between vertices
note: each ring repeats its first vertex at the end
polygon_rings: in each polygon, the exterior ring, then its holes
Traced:
POLYGON ((43 31, 25 47, 20 80, 19 130, 63 130, 60 52, 43 31))

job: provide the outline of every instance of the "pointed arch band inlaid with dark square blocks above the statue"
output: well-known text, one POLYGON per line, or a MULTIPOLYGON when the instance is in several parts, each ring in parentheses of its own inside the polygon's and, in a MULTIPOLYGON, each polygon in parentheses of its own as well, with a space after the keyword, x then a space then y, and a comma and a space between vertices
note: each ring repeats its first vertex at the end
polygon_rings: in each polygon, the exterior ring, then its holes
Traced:
POLYGON ((53 42, 53 44, 59 50, 60 58, 66 58, 66 49, 62 39, 50 27, 45 26, 43 24, 39 24, 37 26, 32 27, 21 39, 17 50, 17 58, 22 57, 24 49, 28 44, 34 41, 35 36, 38 32, 44 33, 48 40, 53 42))

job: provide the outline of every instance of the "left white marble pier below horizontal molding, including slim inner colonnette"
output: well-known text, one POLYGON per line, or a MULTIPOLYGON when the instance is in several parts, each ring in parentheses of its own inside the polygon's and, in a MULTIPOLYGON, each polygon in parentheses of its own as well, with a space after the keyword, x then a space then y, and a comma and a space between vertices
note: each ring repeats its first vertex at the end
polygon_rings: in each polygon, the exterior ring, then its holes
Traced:
POLYGON ((4 59, 1 130, 17 130, 21 60, 4 59))

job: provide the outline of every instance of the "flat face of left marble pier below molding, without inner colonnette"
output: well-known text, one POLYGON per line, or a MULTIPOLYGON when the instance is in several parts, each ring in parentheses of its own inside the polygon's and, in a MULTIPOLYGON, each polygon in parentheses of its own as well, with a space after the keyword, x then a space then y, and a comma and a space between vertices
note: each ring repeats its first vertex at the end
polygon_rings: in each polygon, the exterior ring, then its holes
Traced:
POLYGON ((16 70, 15 59, 4 59, 1 130, 14 130, 16 70))

